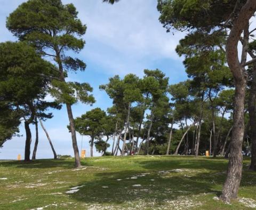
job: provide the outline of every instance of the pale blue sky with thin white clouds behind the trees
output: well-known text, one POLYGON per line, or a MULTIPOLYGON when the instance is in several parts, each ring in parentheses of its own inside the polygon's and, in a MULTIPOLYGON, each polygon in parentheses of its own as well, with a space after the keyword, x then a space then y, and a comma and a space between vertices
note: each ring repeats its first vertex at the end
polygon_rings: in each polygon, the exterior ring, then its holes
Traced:
MULTIPOLYGON (((6 17, 23 0, 0 0, 0 42, 17 40, 6 29, 6 17)), ((73 106, 74 117, 81 116, 92 108, 106 110, 112 106, 108 95, 99 90, 99 85, 108 83, 114 75, 123 77, 133 73, 143 77, 143 69, 160 69, 169 83, 174 84, 187 79, 182 58, 175 53, 175 47, 185 34, 178 31, 166 33, 159 23, 156 0, 122 0, 110 5, 101 0, 62 0, 63 4, 73 3, 78 18, 86 24, 87 31, 83 39, 84 49, 77 54, 87 67, 84 72, 69 74, 68 80, 87 82, 93 87, 96 102, 93 106, 77 103, 73 106)), ((48 98, 51 100, 51 97, 48 98)), ((51 110, 54 117, 44 122, 57 154, 74 156, 71 136, 67 130, 68 116, 65 106, 61 110, 51 110)), ((35 128, 31 126, 34 148, 35 128)), ((24 157, 25 130, 20 126, 20 135, 4 143, 0 148, 0 159, 16 159, 18 154, 24 157)), ((77 134, 78 148, 81 148, 82 136, 77 134)), ((110 147, 111 148, 111 147, 110 147)), ((83 138, 83 149, 90 155, 89 137, 83 138)), ((94 155, 99 156, 95 149, 94 155)), ((52 158, 49 142, 39 126, 37 158, 52 158)))

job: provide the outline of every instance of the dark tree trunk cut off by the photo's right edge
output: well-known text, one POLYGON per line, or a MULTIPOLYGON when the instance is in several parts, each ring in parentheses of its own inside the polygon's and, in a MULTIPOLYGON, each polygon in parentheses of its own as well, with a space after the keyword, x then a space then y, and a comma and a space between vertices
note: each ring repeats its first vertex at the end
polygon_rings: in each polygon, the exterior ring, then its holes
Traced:
POLYGON ((253 72, 252 72, 252 84, 251 90, 249 94, 248 100, 248 109, 249 109, 249 117, 250 117, 250 139, 252 143, 252 157, 251 157, 251 165, 250 169, 256 171, 256 64, 254 64, 253 72))

